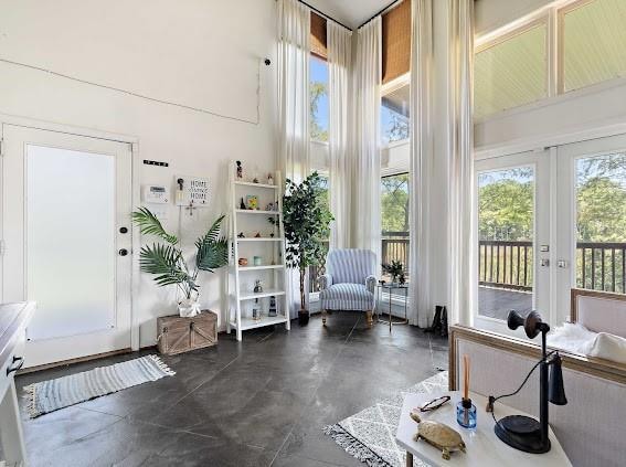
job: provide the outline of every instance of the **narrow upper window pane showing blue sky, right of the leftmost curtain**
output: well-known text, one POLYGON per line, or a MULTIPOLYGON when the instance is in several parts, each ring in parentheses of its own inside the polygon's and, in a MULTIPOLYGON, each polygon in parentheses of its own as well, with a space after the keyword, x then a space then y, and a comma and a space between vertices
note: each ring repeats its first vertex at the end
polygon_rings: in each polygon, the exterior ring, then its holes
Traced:
POLYGON ((328 63, 310 56, 310 137, 328 141, 328 63))

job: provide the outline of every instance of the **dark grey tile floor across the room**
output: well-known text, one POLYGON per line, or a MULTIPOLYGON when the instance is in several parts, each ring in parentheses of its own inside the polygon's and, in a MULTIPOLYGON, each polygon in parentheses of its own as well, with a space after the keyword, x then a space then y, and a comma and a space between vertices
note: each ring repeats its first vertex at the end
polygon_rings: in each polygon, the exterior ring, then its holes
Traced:
MULTIPOLYGON (((141 353, 148 353, 142 351, 141 353)), ((137 353, 24 374, 31 382, 137 353)), ((174 378, 67 407, 23 415, 32 466, 362 466, 321 433, 391 392, 447 368, 447 341, 413 327, 368 329, 335 312, 308 327, 244 333, 165 357, 174 378)), ((23 407, 22 407, 23 408, 23 407)))

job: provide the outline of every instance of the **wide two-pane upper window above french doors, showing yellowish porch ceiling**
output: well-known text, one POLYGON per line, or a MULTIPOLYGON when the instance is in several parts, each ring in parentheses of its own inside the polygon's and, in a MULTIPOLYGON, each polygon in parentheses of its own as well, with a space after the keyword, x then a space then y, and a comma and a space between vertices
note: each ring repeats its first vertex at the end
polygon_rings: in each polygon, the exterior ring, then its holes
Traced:
POLYGON ((478 38, 475 117, 626 76, 625 23, 624 0, 573 0, 478 38))

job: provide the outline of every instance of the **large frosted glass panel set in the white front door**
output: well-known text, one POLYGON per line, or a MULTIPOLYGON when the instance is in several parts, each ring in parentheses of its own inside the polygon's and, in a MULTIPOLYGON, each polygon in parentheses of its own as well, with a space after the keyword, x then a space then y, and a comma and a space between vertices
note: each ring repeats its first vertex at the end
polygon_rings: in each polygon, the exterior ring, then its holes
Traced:
POLYGON ((26 145, 31 340, 115 327, 115 158, 26 145))

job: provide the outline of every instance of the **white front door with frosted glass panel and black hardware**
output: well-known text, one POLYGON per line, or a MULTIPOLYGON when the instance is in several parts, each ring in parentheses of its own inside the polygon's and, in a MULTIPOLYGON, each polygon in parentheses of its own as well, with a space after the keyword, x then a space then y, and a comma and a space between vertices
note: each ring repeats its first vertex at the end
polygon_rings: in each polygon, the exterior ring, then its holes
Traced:
POLYGON ((1 301, 38 303, 28 367, 130 348, 131 147, 3 125, 1 301))

